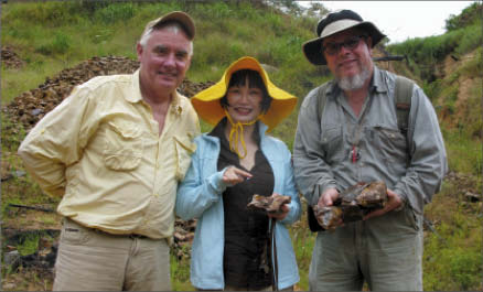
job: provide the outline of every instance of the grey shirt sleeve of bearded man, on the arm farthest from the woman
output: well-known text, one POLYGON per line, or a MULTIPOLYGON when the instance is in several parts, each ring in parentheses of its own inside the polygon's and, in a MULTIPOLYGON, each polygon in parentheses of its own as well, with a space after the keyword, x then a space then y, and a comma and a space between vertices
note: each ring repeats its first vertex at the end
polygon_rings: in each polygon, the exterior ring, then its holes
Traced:
POLYGON ((422 214, 448 171, 447 153, 434 109, 418 86, 415 86, 409 112, 408 142, 410 164, 395 192, 422 214))

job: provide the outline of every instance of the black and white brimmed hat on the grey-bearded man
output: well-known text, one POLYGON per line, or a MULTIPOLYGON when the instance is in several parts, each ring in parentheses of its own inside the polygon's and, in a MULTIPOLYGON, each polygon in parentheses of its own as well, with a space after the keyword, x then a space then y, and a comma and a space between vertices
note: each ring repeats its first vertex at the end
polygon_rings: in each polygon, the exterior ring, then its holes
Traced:
POLYGON ((326 65, 328 62, 322 52, 323 39, 352 28, 359 28, 368 33, 373 41, 373 47, 386 36, 372 22, 364 21, 359 14, 352 10, 341 10, 329 13, 319 21, 316 35, 319 37, 308 41, 302 45, 307 60, 314 65, 326 65))

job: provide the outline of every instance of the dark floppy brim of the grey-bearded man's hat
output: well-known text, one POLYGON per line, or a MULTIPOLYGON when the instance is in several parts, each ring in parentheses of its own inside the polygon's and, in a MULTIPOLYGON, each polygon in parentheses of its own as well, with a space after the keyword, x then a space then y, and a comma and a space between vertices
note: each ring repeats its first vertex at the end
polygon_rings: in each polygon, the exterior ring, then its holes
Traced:
POLYGON ((373 41, 373 47, 386 36, 372 22, 363 21, 356 24, 354 24, 354 22, 351 23, 352 24, 348 25, 340 25, 339 28, 332 30, 331 33, 325 34, 324 36, 320 36, 305 42, 302 45, 302 51, 307 60, 314 65, 326 65, 328 61, 325 60, 325 56, 322 52, 323 39, 348 29, 361 28, 362 30, 366 31, 373 41))

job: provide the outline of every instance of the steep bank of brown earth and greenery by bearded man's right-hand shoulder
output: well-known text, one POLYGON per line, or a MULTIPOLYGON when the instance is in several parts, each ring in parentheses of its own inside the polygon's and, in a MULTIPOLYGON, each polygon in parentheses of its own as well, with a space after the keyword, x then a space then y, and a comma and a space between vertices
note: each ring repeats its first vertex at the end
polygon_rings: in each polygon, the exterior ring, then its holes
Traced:
POLYGON ((447 33, 387 47, 394 54, 407 55, 409 68, 423 80, 423 89, 443 123, 450 169, 479 175, 483 136, 482 15, 483 4, 474 2, 447 20, 447 33))

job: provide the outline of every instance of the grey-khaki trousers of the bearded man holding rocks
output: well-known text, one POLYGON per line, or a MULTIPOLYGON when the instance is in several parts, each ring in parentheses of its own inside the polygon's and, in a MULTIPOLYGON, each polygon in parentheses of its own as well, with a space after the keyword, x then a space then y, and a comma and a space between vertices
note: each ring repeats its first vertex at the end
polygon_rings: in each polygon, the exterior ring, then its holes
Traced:
POLYGON ((422 291, 422 218, 409 208, 318 234, 311 291, 422 291))

